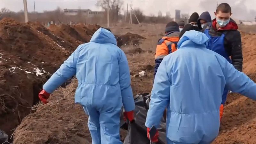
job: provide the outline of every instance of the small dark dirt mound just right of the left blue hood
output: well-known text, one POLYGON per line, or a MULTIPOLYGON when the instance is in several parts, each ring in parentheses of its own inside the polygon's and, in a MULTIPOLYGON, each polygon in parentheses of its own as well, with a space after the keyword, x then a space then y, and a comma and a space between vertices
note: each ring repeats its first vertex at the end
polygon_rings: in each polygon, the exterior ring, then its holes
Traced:
POLYGON ((132 34, 130 32, 126 33, 125 35, 116 36, 117 46, 132 44, 132 45, 139 45, 141 44, 141 39, 146 39, 143 36, 138 34, 132 34))

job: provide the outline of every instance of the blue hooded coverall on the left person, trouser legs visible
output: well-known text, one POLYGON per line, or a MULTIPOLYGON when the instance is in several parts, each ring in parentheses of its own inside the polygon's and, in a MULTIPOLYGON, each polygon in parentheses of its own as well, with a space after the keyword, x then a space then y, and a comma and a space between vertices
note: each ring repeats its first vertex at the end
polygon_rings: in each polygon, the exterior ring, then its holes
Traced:
POLYGON ((127 58, 110 31, 100 28, 89 43, 79 45, 43 89, 52 93, 74 75, 78 80, 75 103, 89 115, 92 144, 121 144, 122 103, 125 111, 132 111, 134 100, 127 58))

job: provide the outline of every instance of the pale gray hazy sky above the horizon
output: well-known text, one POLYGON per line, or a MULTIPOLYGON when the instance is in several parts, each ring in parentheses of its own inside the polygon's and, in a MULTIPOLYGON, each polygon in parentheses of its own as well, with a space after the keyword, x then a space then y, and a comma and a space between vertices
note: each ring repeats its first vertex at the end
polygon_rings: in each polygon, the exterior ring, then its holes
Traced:
MULTIPOLYGON (((43 12, 44 10, 54 10, 58 6, 64 9, 91 9, 94 11, 101 10, 97 7, 96 0, 35 0, 36 11, 43 12)), ((240 20, 254 20, 256 16, 256 0, 124 0, 122 13, 126 11, 126 4, 132 2, 132 8, 140 8, 145 15, 157 15, 158 11, 162 11, 163 15, 170 12, 174 17, 175 9, 181 10, 181 13, 191 14, 198 12, 200 15, 204 11, 211 13, 214 17, 217 2, 228 3, 232 8, 233 18, 240 20)), ((28 11, 34 11, 34 0, 28 0, 28 11)), ((23 10, 23 0, 0 0, 0 8, 7 8, 11 11, 18 12, 23 10)))

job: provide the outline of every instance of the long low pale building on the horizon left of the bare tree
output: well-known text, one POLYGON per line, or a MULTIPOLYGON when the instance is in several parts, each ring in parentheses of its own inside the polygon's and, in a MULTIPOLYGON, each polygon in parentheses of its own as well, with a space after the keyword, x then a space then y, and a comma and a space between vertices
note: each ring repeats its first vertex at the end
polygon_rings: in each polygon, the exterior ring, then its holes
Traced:
POLYGON ((81 12, 85 17, 103 16, 103 11, 92 11, 90 9, 64 9, 65 15, 77 15, 81 12))

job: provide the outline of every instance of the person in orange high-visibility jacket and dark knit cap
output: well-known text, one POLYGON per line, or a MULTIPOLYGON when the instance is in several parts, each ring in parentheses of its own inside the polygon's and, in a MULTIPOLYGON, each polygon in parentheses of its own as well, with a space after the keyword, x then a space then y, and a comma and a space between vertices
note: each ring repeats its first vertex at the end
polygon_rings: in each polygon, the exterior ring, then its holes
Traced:
POLYGON ((177 50, 177 43, 179 41, 180 29, 175 21, 169 22, 165 27, 165 36, 158 40, 155 55, 154 79, 157 69, 163 58, 177 50))

